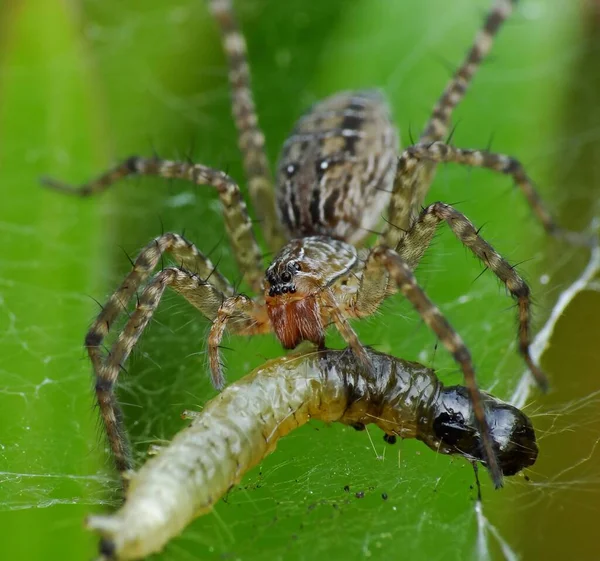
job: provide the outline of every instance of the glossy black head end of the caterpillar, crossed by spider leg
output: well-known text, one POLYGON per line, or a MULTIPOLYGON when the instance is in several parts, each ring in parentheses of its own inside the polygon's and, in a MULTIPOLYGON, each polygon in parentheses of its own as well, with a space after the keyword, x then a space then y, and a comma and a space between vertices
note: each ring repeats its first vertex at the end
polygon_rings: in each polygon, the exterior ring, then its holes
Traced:
MULTIPOLYGON (((486 418, 504 475, 515 475, 535 463, 538 448, 529 418, 512 405, 483 394, 486 418)), ((445 388, 432 413, 432 436, 440 451, 461 454, 485 464, 479 430, 466 388, 445 388)), ((427 442, 430 446, 435 442, 427 442)))

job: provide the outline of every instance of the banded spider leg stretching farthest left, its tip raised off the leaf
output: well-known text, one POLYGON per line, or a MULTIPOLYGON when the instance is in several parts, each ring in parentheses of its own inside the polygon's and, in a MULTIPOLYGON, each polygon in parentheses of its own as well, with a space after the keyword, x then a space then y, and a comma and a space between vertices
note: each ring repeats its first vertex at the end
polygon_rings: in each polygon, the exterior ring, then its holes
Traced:
POLYGON ((86 197, 107 189, 129 175, 155 175, 172 179, 186 179, 196 185, 210 185, 217 189, 223 207, 225 228, 233 247, 240 271, 253 290, 260 292, 263 279, 262 255, 239 186, 226 173, 188 162, 132 156, 97 179, 79 187, 53 179, 43 179, 47 187, 63 193, 86 197))

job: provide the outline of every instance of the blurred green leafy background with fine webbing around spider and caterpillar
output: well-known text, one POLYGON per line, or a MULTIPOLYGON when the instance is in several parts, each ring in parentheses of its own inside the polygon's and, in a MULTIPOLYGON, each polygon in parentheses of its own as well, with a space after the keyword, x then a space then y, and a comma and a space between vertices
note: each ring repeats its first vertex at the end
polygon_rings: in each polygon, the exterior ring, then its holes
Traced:
MULTIPOLYGON (((600 18, 594 2, 523 0, 456 113, 453 142, 517 155, 562 224, 586 227, 600 178, 600 18)), ((381 87, 405 143, 461 60, 487 0, 246 0, 256 100, 275 161, 295 119, 344 88, 381 87)), ((135 253, 181 232, 238 279, 210 189, 131 180, 91 200, 39 188, 82 181, 130 154, 191 156, 243 185, 217 31, 202 0, 0 3, 0 535, 6 559, 91 559, 91 511, 115 506, 116 479, 93 407, 83 337, 135 253)), ((440 169, 429 202, 456 203, 530 281, 536 327, 586 252, 549 240, 504 177, 440 169)), ((443 231, 421 283, 470 346, 482 387, 509 398, 523 372, 515 314, 499 283, 443 231)), ((417 442, 377 429, 311 424, 197 520, 161 559, 597 559, 600 294, 579 295, 543 366, 547 396, 527 411, 540 459, 494 492, 417 442), (344 491, 344 486, 350 492, 344 491), (364 491, 359 499, 356 492, 364 491), (388 495, 384 501, 382 493, 388 495)), ((438 369, 451 359, 400 297, 356 324, 365 343, 438 369)), ((208 323, 165 296, 119 395, 142 461, 180 412, 214 395, 208 323)), ((335 334, 331 345, 341 346, 335 334)), ((279 356, 271 336, 226 343, 230 380, 279 356)))

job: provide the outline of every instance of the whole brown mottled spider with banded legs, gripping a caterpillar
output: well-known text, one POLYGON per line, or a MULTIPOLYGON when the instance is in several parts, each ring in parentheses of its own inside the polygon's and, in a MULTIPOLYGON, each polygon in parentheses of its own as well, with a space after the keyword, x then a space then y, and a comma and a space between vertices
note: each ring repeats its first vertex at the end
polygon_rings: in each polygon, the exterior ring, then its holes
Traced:
POLYGON ((511 176, 546 231, 559 232, 517 160, 485 150, 456 148, 443 141, 453 109, 464 97, 514 4, 514 0, 495 1, 416 144, 400 151, 397 131, 380 93, 338 93, 317 103, 297 122, 283 145, 274 190, 250 88, 244 37, 231 0, 210 0, 228 58, 232 110, 250 198, 267 244, 277 252, 266 274, 240 188, 223 171, 202 164, 134 156, 81 187, 46 180, 56 190, 80 196, 99 193, 129 175, 187 179, 216 188, 237 264, 256 294, 251 298, 236 293, 210 260, 178 234, 163 234, 141 251, 133 270, 85 338, 100 412, 124 484, 132 460, 114 386, 121 365, 148 325, 166 287, 181 294, 212 321, 208 349, 212 381, 217 388, 225 383, 219 359, 225 329, 238 335, 274 332, 287 349, 304 340, 322 348, 325 328, 333 323, 367 371, 373 372, 369 355, 349 319, 373 314, 386 297, 401 292, 464 373, 482 434, 483 457, 495 485, 502 484, 469 351, 419 287, 413 270, 438 226, 447 223, 458 240, 516 299, 519 351, 538 383, 546 385, 544 373, 529 353, 527 284, 452 206, 436 202, 421 210, 436 165, 453 162, 511 176), (375 246, 357 247, 380 222, 386 207, 385 227, 375 246), (165 253, 170 253, 180 266, 165 268, 151 277, 165 253), (110 352, 104 355, 104 338, 138 289, 142 291, 135 310, 110 352))

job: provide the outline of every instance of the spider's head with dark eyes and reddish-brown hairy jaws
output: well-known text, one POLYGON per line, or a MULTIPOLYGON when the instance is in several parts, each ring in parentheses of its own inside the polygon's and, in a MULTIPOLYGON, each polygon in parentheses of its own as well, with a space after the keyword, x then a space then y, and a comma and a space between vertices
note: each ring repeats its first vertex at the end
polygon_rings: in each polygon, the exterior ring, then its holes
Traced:
POLYGON ((265 302, 273 331, 286 349, 302 341, 325 343, 327 313, 319 293, 357 263, 354 246, 312 236, 289 242, 265 273, 265 302))

